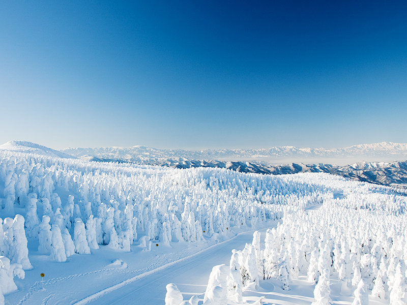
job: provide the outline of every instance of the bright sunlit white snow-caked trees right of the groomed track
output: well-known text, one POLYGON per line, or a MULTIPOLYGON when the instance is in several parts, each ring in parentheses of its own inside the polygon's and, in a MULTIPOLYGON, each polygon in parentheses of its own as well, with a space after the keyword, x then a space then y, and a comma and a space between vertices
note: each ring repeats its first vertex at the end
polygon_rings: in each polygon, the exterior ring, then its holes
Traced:
POLYGON ((242 303, 242 289, 257 288, 260 279, 277 278, 288 290, 301 276, 316 284, 314 305, 332 302, 333 278, 341 294, 354 293, 355 305, 367 304, 369 294, 407 304, 405 194, 348 183, 332 195, 314 208, 286 212, 264 243, 254 232, 252 243, 232 251, 229 266, 214 267, 204 304, 242 303))

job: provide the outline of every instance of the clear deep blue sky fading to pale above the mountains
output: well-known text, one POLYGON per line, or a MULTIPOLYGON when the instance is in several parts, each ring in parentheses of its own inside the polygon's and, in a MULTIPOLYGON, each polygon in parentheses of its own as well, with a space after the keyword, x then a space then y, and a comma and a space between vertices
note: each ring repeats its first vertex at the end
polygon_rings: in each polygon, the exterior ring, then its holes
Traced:
POLYGON ((0 142, 407 142, 405 1, 5 1, 0 142))

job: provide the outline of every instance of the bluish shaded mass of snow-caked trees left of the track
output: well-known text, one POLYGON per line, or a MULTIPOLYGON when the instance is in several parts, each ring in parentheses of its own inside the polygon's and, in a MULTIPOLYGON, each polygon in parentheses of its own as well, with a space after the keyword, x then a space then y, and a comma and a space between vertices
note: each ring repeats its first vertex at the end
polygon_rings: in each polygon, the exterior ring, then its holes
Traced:
POLYGON ((288 206, 321 200, 328 189, 225 169, 96 163, 2 150, 0 251, 12 264, 3 259, 3 268, 19 276, 23 272, 13 264, 31 268, 27 239, 38 240, 38 253, 55 262, 101 245, 130 251, 135 242, 145 250, 152 242, 200 242, 226 236, 231 227, 279 219, 288 206))

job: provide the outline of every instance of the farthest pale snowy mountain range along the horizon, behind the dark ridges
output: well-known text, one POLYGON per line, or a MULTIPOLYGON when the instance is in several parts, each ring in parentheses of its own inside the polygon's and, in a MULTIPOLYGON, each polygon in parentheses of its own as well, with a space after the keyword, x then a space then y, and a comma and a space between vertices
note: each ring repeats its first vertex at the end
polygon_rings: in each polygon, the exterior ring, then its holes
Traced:
MULTIPOLYGON (((349 158, 363 156, 395 156, 407 159, 407 143, 381 142, 361 144, 345 148, 300 148, 281 146, 263 149, 156 149, 147 146, 100 147, 100 148, 65 148, 64 153, 74 157, 97 157, 126 162, 157 162, 159 159, 187 158, 192 160, 261 160, 265 158, 349 158)), ((361 158, 363 159, 363 158, 361 158)))

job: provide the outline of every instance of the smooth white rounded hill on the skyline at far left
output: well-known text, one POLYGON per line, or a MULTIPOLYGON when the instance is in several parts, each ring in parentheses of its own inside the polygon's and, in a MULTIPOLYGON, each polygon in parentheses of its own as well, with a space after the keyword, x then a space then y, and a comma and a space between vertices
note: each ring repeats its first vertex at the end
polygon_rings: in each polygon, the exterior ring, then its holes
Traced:
POLYGON ((59 150, 54 150, 28 141, 9 141, 0 145, 0 150, 9 150, 19 153, 43 155, 54 158, 75 158, 59 150))

